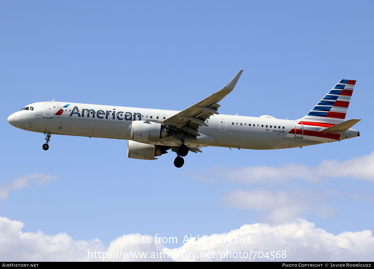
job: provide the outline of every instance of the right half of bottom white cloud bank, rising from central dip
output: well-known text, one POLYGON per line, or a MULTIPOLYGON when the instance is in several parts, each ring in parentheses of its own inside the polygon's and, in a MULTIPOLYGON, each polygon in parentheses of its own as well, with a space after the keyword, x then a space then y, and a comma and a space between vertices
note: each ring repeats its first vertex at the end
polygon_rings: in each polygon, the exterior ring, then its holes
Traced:
MULTIPOLYGON (((285 251, 286 258, 273 259, 281 262, 370 261, 372 260, 371 253, 374 250, 374 238, 370 230, 355 233, 344 232, 335 236, 322 229, 315 228, 313 223, 303 219, 278 226, 264 223, 243 225, 240 229, 212 235, 205 240, 208 243, 201 244, 197 241, 189 241, 172 251, 195 252, 197 257, 200 255, 200 258, 197 259, 199 261, 215 261, 221 258, 226 261, 246 261, 249 259, 251 251, 252 259, 254 251, 257 251, 257 255, 260 254, 260 257, 263 254, 266 256, 266 253, 270 256, 272 251, 274 251, 273 255, 278 251, 282 255, 282 251, 285 251), (242 241, 249 237, 251 243, 242 241), (216 242, 214 242, 214 239, 216 239, 216 242), (218 242, 219 239, 224 239, 224 242, 218 242), (234 253, 239 255, 239 251, 242 251, 242 256, 245 256, 244 253, 248 253, 248 258, 235 258, 234 253), (260 251, 262 253, 258 253, 260 251), (201 257, 202 252, 215 252, 215 254, 218 254, 218 259, 201 257)), ((191 259, 178 258, 175 260, 187 261, 191 259)), ((268 259, 266 257, 258 258, 257 256, 253 261, 268 261, 268 259)))

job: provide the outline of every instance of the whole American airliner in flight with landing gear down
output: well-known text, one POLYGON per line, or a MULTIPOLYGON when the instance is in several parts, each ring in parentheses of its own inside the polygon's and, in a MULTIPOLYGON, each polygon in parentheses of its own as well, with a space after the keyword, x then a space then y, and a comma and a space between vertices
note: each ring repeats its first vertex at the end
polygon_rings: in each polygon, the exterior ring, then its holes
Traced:
POLYGON ((182 167, 189 151, 218 146, 238 149, 283 149, 329 143, 360 136, 351 129, 359 119, 344 121, 355 80, 342 79, 298 120, 269 115, 245 117, 218 114, 220 102, 235 87, 243 70, 220 91, 183 111, 37 102, 8 117, 19 129, 51 135, 103 137, 128 140, 128 157, 156 160, 175 152, 175 167, 182 167))

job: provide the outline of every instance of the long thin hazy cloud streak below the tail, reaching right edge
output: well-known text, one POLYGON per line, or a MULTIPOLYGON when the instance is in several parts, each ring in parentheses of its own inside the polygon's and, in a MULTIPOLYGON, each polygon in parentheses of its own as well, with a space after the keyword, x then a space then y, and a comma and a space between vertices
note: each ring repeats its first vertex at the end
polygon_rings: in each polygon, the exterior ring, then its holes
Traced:
POLYGON ((374 181, 374 152, 362 157, 346 161, 322 161, 316 167, 301 164, 284 164, 280 167, 248 166, 229 170, 215 169, 206 172, 206 176, 192 173, 191 177, 202 181, 212 181, 212 178, 223 178, 233 182, 284 182, 290 179, 303 179, 309 182, 319 182, 324 178, 351 177, 374 181))

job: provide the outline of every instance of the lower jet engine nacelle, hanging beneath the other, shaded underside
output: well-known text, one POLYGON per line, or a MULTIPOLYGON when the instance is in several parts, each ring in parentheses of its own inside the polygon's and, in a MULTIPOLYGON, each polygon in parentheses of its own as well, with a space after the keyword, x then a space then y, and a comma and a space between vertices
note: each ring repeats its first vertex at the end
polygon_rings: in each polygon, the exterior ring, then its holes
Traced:
POLYGON ((156 146, 128 140, 127 157, 141 160, 157 160, 156 156, 168 153, 165 149, 171 147, 156 146))

